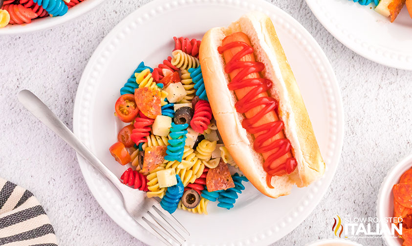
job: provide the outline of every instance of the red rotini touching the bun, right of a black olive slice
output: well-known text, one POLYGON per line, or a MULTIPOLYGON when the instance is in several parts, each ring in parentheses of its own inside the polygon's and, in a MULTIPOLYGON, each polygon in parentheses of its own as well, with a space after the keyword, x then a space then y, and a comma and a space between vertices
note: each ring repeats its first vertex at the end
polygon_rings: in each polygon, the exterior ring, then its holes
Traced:
POLYGON ((208 101, 199 100, 195 105, 195 114, 193 115, 190 126, 198 133, 203 133, 212 120, 212 109, 208 101))

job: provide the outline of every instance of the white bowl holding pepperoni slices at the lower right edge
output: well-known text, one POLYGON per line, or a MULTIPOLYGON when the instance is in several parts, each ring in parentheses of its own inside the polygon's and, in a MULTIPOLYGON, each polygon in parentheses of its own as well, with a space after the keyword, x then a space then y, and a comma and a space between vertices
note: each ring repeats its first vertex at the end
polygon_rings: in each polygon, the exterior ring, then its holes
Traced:
MULTIPOLYGON (((398 184, 399 180, 404 172, 412 167, 412 155, 407 156, 402 161, 390 168, 388 174, 383 180, 381 187, 379 188, 378 200, 376 201, 376 217, 380 221, 381 228, 391 228, 391 224, 385 223, 385 218, 393 217, 393 193, 392 187, 394 184, 398 184)), ((384 230, 386 231, 386 230, 384 230)), ((388 246, 401 246, 402 239, 393 238, 391 235, 384 233, 382 235, 384 241, 388 246)))

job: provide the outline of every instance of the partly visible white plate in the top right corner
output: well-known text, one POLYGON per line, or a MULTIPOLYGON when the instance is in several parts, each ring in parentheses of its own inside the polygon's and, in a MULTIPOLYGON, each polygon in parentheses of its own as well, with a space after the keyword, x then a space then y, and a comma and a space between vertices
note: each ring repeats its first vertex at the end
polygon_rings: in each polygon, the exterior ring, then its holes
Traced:
POLYGON ((412 70, 412 19, 402 9, 390 20, 351 0, 306 0, 322 25, 359 55, 390 67, 412 70))

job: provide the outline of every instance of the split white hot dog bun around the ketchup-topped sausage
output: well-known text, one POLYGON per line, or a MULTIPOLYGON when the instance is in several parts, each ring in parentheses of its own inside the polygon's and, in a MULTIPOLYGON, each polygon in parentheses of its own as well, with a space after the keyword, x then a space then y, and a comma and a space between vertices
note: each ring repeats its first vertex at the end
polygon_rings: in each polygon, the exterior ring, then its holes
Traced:
POLYGON ((292 186, 307 186, 325 172, 318 143, 309 120, 304 101, 284 55, 272 21, 260 12, 242 16, 229 27, 216 27, 203 37, 199 50, 206 92, 215 116, 222 140, 249 181, 263 194, 277 198, 290 193, 292 186), (285 124, 284 133, 292 145, 292 153, 298 162, 290 175, 273 177, 272 186, 266 184, 263 157, 253 148, 254 138, 241 125, 244 119, 235 109, 237 98, 228 89, 228 74, 224 72, 224 60, 217 47, 234 32, 245 33, 255 49, 255 58, 265 64, 262 76, 273 82, 268 90, 279 101, 279 117, 285 124))

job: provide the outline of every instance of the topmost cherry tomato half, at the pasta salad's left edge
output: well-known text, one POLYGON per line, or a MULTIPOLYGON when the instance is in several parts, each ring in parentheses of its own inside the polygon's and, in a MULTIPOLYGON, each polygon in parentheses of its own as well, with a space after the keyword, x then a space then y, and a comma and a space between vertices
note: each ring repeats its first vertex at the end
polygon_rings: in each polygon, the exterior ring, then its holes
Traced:
POLYGON ((116 101, 115 110, 117 117, 119 117, 122 122, 132 122, 139 113, 139 108, 134 101, 134 95, 121 95, 116 101))

